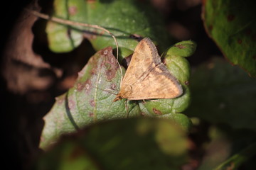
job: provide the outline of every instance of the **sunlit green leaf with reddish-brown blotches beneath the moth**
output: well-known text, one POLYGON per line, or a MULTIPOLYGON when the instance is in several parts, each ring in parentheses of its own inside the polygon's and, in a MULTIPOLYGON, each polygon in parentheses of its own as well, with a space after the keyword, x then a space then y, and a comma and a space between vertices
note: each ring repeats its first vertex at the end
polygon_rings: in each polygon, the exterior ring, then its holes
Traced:
MULTIPOLYGON (((113 102, 119 91, 121 72, 112 55, 111 47, 97 52, 79 72, 74 87, 58 97, 51 111, 45 116, 46 125, 43 128, 41 147, 45 148, 58 140, 60 135, 73 132, 85 125, 141 115, 169 118, 188 131, 191 121, 186 115, 176 113, 184 111, 190 103, 190 93, 186 85, 189 79, 189 64, 185 58, 171 53, 166 53, 164 57, 170 73, 183 86, 181 97, 144 103, 127 101, 125 98, 113 102)), ((122 69, 123 74, 124 72, 122 69)))

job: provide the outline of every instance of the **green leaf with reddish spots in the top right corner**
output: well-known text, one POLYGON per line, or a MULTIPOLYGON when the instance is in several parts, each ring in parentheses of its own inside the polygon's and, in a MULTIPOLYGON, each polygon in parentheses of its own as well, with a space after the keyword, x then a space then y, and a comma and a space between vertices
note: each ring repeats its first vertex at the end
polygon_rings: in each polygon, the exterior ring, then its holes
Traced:
POLYGON ((208 0, 203 6, 206 31, 223 55, 256 77, 254 0, 208 0))

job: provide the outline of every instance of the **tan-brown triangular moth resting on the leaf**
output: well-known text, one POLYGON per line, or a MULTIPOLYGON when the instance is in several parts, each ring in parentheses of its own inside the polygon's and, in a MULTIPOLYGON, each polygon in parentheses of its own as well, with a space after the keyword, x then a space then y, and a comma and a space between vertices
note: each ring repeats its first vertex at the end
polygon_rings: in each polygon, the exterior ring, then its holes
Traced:
POLYGON ((114 101, 122 98, 176 98, 182 93, 181 84, 161 62, 154 43, 149 38, 144 38, 135 47, 132 60, 122 79, 121 89, 114 101))

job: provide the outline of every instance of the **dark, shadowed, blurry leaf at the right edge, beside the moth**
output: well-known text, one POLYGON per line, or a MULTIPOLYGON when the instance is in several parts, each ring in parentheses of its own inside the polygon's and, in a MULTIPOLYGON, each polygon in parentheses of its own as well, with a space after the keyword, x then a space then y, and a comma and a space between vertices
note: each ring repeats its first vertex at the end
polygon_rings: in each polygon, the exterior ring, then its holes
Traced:
POLYGON ((189 116, 256 130, 256 80, 240 68, 214 58, 194 70, 190 87, 189 116))

